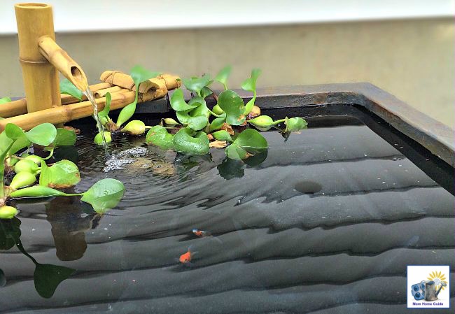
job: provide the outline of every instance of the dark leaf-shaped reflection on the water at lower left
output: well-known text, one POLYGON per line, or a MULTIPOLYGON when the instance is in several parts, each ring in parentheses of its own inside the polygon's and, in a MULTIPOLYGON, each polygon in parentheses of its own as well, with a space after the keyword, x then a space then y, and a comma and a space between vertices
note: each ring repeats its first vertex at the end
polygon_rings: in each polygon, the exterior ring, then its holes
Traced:
POLYGON ((70 269, 64 266, 57 266, 52 264, 39 264, 36 263, 33 280, 35 289, 38 294, 46 299, 54 295, 58 285, 63 280, 69 278, 76 269, 70 269))

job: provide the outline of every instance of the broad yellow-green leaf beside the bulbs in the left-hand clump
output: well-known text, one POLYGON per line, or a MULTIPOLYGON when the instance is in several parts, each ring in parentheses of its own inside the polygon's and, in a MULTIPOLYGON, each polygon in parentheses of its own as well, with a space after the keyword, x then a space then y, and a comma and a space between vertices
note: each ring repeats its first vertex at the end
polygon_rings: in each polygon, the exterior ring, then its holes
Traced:
POLYGON ((41 162, 41 173, 39 176, 39 185, 62 189, 72 187, 80 181, 78 166, 69 160, 63 159, 52 166, 47 166, 41 162))

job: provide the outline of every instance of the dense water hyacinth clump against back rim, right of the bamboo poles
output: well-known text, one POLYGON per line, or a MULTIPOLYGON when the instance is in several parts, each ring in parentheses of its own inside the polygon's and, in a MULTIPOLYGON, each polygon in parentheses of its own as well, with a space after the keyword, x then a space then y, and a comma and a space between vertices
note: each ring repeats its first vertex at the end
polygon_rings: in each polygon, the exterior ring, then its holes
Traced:
MULTIPOLYGON (((203 155, 207 154, 211 147, 223 148, 228 145, 225 148, 228 158, 245 160, 267 150, 267 141, 256 129, 267 131, 283 125, 285 129, 282 131, 288 133, 307 127, 307 122, 301 117, 273 120, 267 115, 260 115, 260 108, 255 106, 256 82, 260 69, 253 69, 251 77, 241 84, 243 90, 253 92, 253 97, 246 104, 237 92, 228 89, 230 72, 231 67, 225 66, 216 76, 215 80, 224 87, 218 96, 209 88, 213 83, 209 75, 184 78, 183 85, 192 92, 193 97, 187 102, 180 88, 170 97, 171 107, 182 124, 181 127, 176 127, 180 128, 179 131, 173 135, 169 134, 165 127, 151 127, 146 143, 188 155, 203 155), (207 107, 204 99, 209 95, 216 99, 216 105, 211 109, 207 107), (245 129, 247 124, 251 124, 255 129, 245 129), (212 142, 207 141, 206 137, 212 142)), ((167 119, 162 120, 164 125, 174 128, 179 125, 175 120, 167 119)))

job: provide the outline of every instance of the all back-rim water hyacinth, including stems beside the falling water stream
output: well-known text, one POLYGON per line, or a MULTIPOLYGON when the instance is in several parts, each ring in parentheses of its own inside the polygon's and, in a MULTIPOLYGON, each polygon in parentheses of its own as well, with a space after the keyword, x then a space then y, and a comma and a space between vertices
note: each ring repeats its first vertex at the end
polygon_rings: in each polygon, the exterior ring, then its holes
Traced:
MULTIPOLYGON (((139 136, 148 129, 146 143, 163 150, 176 150, 187 155, 205 155, 210 148, 225 148, 228 158, 244 160, 268 148, 267 141, 258 130, 267 131, 275 127, 284 134, 289 134, 307 127, 307 122, 302 117, 273 120, 267 115, 260 115, 260 108, 255 106, 256 82, 261 73, 260 69, 253 69, 251 76, 241 83, 243 90, 253 93, 253 97, 246 104, 237 92, 228 89, 231 71, 231 66, 225 66, 214 80, 211 80, 208 74, 183 78, 183 85, 191 92, 192 97, 187 102, 181 88, 174 90, 170 97, 170 105, 175 112, 176 120, 173 117, 166 117, 159 125, 147 126, 140 120, 127 121, 136 110, 139 85, 160 73, 134 66, 130 73, 136 85, 134 102, 125 106, 120 111, 117 122, 113 123, 108 115, 111 104, 111 95, 108 93, 106 106, 98 113, 104 127, 109 129, 104 133, 107 142, 111 141, 111 132, 120 131, 139 136), (223 86, 223 92, 219 95, 210 87, 215 81, 223 86), (205 100, 207 97, 216 99, 213 108, 207 106, 205 100), (172 129, 172 132, 169 132, 169 129, 172 129)), ((71 89, 66 88, 66 91, 71 92, 71 89)), ((77 97, 78 94, 73 96, 77 97)), ((94 143, 102 143, 101 134, 95 136, 94 143)))

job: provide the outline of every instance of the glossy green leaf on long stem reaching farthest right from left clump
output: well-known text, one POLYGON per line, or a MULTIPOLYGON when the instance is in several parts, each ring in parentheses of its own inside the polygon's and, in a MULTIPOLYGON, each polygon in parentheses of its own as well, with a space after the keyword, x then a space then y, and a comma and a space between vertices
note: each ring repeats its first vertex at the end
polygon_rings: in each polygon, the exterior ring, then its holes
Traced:
POLYGON ((119 180, 106 178, 92 185, 83 193, 82 201, 93 206, 97 213, 106 213, 117 206, 125 193, 125 186, 119 180))

